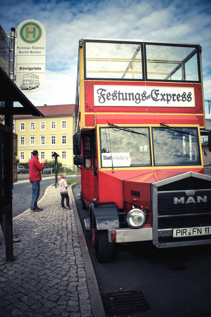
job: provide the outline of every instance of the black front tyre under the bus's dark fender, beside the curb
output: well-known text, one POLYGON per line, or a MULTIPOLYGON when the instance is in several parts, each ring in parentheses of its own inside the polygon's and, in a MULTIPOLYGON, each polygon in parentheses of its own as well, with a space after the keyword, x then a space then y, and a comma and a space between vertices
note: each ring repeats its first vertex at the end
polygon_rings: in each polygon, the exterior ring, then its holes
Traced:
POLYGON ((98 262, 112 262, 115 256, 115 244, 109 242, 107 230, 95 231, 95 254, 98 262))

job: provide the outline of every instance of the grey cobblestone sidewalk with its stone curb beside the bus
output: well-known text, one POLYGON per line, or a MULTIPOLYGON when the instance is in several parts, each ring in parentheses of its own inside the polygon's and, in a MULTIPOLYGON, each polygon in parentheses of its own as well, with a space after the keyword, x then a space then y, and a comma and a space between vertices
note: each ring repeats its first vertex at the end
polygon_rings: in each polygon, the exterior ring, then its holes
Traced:
POLYGON ((84 234, 69 188, 71 210, 49 186, 38 205, 13 218, 14 261, 6 262, 0 230, 1 317, 105 316, 84 234), (74 213, 75 211, 75 213, 74 213))

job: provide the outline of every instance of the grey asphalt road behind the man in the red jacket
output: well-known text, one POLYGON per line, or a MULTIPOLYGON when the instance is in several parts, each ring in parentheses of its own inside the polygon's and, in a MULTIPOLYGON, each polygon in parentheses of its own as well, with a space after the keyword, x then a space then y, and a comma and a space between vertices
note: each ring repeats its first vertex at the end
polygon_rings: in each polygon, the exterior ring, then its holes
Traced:
MULTIPOLYGON (((26 174, 21 174, 21 176, 26 174)), ((75 175, 67 176, 66 179, 75 178, 75 175)), ((59 178, 58 178, 59 179, 59 178)), ((55 184, 55 177, 42 178, 40 181, 40 196, 38 200, 44 195, 45 190, 51 184, 55 184)), ((22 212, 30 208, 32 201, 32 185, 29 180, 26 183, 19 183, 13 185, 13 217, 20 215, 22 212)), ((52 205, 53 207, 53 205, 52 205)))

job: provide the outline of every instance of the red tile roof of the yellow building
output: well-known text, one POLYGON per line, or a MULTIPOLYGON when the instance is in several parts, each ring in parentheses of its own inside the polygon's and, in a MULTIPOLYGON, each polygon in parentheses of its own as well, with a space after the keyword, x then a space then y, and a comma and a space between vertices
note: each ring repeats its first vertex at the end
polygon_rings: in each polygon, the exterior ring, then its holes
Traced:
MULTIPOLYGON (((59 117, 73 115, 75 111, 75 104, 71 105, 53 105, 53 106, 39 106, 36 107, 45 117, 59 117)), ((14 119, 19 118, 35 118, 31 114, 15 114, 14 119)), ((41 118, 41 117, 39 117, 41 118)))

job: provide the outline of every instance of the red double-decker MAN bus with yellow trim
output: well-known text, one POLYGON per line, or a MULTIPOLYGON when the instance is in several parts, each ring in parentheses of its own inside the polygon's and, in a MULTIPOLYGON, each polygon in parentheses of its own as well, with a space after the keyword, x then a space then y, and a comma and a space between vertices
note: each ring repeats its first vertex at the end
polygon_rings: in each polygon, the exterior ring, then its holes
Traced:
POLYGON ((202 48, 79 41, 74 162, 99 262, 115 243, 211 243, 204 175, 202 48))

